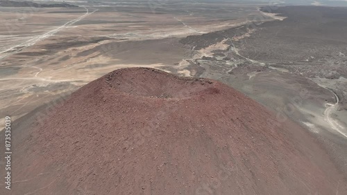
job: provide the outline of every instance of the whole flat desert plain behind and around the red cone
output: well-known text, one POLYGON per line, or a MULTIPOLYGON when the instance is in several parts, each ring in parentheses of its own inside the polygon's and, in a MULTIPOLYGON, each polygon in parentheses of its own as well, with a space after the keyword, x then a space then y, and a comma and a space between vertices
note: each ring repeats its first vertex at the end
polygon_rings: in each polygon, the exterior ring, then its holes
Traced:
POLYGON ((294 120, 347 176, 347 7, 303 2, 0 7, 0 129, 117 68, 158 68, 228 84, 271 110, 268 123, 294 120))

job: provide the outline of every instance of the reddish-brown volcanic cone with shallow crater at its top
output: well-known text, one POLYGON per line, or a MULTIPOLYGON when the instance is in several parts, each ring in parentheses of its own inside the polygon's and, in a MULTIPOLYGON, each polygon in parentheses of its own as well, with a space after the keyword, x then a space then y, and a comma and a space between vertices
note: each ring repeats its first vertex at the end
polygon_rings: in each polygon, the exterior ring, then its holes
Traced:
POLYGON ((14 194, 347 194, 300 126, 221 82, 151 68, 83 86, 25 134, 14 194))

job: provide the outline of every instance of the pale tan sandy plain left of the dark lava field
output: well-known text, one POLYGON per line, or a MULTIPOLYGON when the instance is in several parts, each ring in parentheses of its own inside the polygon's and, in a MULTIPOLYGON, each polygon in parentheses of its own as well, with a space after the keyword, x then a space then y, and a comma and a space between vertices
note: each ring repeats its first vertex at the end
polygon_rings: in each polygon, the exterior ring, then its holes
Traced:
MULTIPOLYGON (((184 65, 192 50, 174 37, 239 26, 260 13, 255 5, 230 3, 218 15, 214 10, 220 5, 214 4, 178 3, 155 10, 147 3, 78 5, 0 8, 5 24, 0 26, 1 120, 18 118, 116 68, 145 66, 194 75, 184 65)), ((211 46, 204 55, 226 46, 211 46)))

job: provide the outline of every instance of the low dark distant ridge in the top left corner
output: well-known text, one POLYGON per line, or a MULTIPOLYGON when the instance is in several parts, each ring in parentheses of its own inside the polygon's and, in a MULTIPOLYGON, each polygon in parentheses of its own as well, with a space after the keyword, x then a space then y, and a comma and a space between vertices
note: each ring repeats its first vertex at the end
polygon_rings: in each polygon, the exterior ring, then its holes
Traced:
POLYGON ((31 1, 0 1, 1 7, 32 7, 32 8, 76 8, 67 3, 39 4, 31 1))

